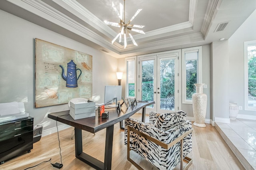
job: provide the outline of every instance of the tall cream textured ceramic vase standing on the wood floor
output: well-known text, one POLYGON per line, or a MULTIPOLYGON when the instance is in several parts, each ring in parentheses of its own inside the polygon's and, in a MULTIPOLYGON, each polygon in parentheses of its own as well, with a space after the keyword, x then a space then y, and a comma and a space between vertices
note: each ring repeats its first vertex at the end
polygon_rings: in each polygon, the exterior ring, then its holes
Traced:
POLYGON ((206 116, 207 96, 203 93, 203 83, 194 84, 196 86, 196 93, 192 95, 192 107, 194 113, 194 126, 206 127, 204 124, 206 116))

